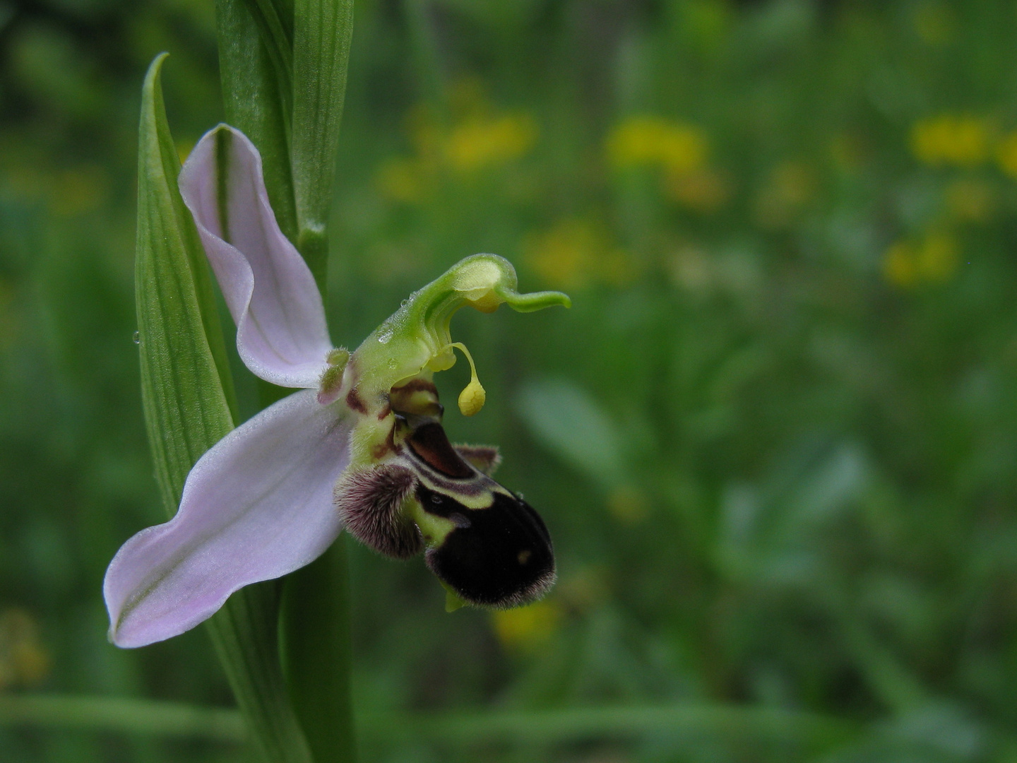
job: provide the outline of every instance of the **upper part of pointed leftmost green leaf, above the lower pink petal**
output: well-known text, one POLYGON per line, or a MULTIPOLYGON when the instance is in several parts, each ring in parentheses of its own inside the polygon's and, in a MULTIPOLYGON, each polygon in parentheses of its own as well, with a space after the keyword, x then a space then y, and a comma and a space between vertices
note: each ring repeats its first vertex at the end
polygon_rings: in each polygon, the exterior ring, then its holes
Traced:
POLYGON ((177 187, 180 160, 159 80, 165 58, 152 63, 142 91, 135 299, 145 424, 172 515, 191 466, 233 428, 233 415, 204 251, 177 187))

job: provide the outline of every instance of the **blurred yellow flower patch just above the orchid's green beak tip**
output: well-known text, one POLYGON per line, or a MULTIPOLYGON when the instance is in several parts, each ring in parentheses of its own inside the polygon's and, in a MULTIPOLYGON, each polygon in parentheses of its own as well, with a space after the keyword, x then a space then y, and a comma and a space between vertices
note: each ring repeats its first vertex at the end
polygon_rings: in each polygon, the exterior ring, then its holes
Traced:
POLYGON ((579 288, 594 281, 620 285, 637 275, 629 255, 610 244, 600 226, 577 218, 528 236, 523 258, 555 287, 579 288))

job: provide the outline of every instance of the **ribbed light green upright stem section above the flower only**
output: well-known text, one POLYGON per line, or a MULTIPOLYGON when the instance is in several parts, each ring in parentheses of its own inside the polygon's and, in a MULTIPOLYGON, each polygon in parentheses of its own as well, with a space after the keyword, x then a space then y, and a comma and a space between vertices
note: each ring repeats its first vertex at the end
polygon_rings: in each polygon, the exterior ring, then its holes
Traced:
POLYGON ((300 228, 296 244, 319 288, 324 286, 325 226, 352 36, 353 0, 296 0, 291 148, 300 228))

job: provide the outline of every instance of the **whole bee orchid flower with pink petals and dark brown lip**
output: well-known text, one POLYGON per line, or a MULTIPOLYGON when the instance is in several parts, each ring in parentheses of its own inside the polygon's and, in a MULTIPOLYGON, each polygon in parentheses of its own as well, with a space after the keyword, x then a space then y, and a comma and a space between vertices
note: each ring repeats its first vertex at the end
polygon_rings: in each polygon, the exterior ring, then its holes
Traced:
POLYGON ((518 293, 512 265, 463 259, 415 292, 350 353, 328 338, 321 295, 268 202, 257 150, 221 125, 180 174, 208 261, 237 326, 237 350, 260 378, 298 390, 223 437, 194 465, 180 508, 141 530, 110 563, 110 639, 137 647, 210 618, 242 586, 321 554, 345 528, 395 557, 423 552, 454 600, 510 607, 554 580, 547 528, 490 474, 497 450, 450 444, 433 374, 455 350, 472 378, 459 399, 473 415, 484 391, 450 321, 569 305, 558 292, 518 293))

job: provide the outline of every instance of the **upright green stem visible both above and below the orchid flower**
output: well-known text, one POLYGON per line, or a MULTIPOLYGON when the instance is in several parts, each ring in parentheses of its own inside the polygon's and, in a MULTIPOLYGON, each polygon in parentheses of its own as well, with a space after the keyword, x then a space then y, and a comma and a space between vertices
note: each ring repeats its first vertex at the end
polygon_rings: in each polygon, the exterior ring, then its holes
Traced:
MULTIPOLYGON (((328 213, 352 36, 353 0, 294 1, 290 130, 298 228, 294 243, 325 301, 328 213)), ((280 630, 290 696, 314 759, 352 763, 356 748, 345 538, 287 577, 280 630)))

